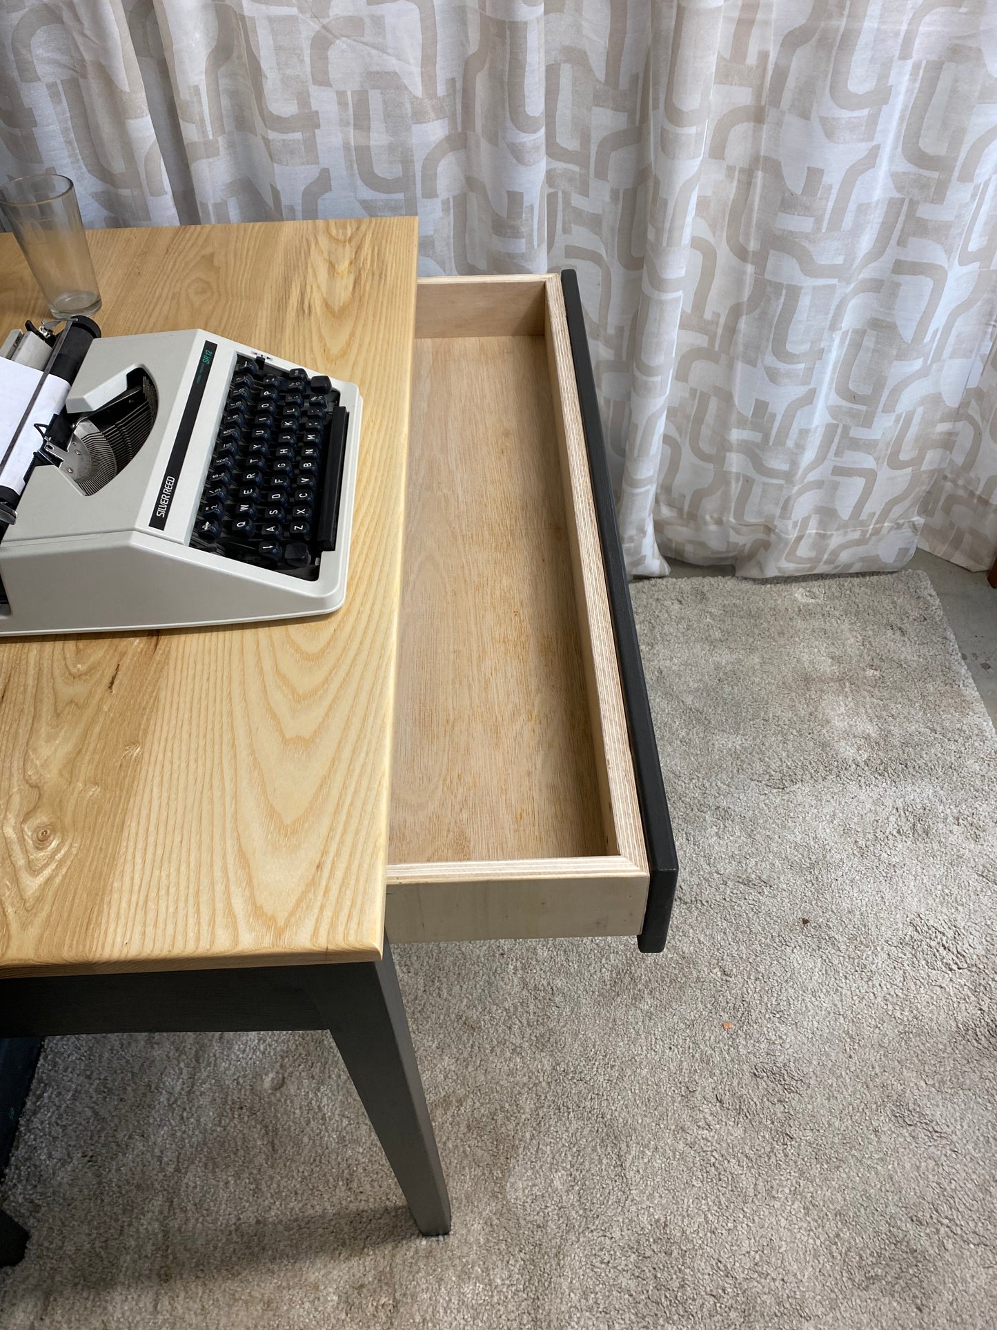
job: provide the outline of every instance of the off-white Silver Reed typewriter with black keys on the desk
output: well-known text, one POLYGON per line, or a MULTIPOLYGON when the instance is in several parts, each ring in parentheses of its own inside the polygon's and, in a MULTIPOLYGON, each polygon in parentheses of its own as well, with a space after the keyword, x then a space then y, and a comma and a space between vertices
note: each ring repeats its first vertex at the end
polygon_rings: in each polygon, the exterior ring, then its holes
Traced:
POLYGON ((323 614, 346 596, 356 384, 202 329, 0 346, 0 636, 323 614))

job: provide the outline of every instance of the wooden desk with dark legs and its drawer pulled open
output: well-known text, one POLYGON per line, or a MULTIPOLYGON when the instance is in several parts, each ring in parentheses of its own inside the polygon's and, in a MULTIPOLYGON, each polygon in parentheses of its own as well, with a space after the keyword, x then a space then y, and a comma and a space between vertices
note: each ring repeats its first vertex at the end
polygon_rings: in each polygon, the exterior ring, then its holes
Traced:
MULTIPOLYGON (((386 919, 653 951, 675 888, 574 274, 416 283, 413 219, 90 239, 106 334, 359 384, 351 584, 311 622, 0 645, 0 1036, 330 1028, 445 1232, 386 919)), ((12 241, 0 273, 12 325, 12 241)))

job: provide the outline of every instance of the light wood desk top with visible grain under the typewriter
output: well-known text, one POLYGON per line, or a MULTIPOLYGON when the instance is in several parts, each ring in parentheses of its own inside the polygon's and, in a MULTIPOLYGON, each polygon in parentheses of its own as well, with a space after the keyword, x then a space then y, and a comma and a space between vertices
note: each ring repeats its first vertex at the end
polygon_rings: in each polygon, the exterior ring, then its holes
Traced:
MULTIPOLYGON (((0 975, 380 955, 415 218, 90 233, 106 336, 203 327, 359 384, 344 606, 0 642, 0 975)), ((0 235, 0 336, 45 317, 0 235)))

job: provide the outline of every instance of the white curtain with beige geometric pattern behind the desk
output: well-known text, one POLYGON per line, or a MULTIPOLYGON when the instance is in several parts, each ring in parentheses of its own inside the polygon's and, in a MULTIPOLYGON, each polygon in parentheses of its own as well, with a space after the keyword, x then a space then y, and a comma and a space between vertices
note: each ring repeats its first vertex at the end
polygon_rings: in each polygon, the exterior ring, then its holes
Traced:
POLYGON ((986 0, 0 0, 0 176, 41 166, 92 226, 577 267, 634 573, 993 559, 986 0))

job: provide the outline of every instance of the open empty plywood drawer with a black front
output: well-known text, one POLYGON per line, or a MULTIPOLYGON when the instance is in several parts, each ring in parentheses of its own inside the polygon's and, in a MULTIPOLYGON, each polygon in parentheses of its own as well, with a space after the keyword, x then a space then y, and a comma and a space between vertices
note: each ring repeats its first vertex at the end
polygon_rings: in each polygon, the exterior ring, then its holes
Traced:
POLYGON ((387 932, 657 950, 674 843, 574 274, 420 281, 415 336, 387 932))

